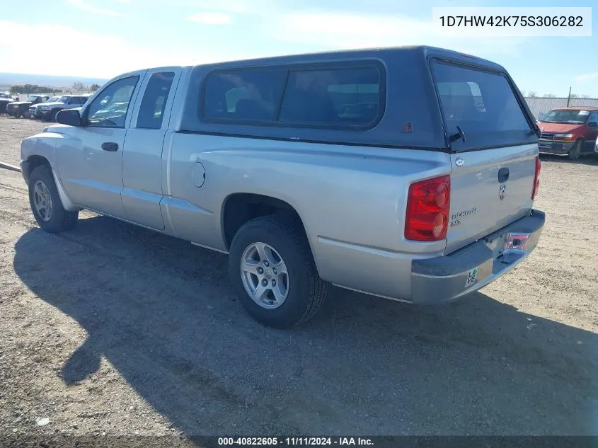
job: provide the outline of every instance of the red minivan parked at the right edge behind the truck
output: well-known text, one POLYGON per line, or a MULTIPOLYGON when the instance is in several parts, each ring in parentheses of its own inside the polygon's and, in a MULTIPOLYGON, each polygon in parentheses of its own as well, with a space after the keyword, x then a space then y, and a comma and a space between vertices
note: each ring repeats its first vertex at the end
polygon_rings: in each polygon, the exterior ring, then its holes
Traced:
POLYGON ((598 108, 558 108, 541 116, 538 147, 540 152, 568 154, 577 160, 592 154, 598 138, 598 108))

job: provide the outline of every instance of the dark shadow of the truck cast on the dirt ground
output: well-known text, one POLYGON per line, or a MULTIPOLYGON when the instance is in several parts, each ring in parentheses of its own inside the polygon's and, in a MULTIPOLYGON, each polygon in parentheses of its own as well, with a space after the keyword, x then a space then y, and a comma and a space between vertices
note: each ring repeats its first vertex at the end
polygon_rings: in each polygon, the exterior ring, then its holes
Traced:
POLYGON ((276 331, 236 302, 225 255, 184 241, 93 217, 15 249, 88 333, 62 380, 105 357, 188 435, 598 434, 598 336, 481 293, 422 308, 333 289, 276 331))

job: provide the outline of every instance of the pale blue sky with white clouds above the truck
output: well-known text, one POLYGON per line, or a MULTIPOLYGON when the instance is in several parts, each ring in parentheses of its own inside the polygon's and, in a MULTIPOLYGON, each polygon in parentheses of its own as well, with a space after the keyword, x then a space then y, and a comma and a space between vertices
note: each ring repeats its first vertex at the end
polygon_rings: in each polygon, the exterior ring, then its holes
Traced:
POLYGON ((565 6, 558 0, 1 0, 0 71, 110 79, 168 65, 327 50, 434 45, 484 57, 525 93, 598 98, 592 37, 468 38, 432 30, 432 6, 565 6))

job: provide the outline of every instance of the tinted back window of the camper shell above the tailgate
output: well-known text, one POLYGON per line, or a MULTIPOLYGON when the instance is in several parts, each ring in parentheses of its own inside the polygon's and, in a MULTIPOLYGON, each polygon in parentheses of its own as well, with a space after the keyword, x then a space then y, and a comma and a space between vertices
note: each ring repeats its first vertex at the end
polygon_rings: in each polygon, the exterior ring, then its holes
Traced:
POLYGON ((435 62, 442 114, 453 149, 483 149, 536 141, 527 117, 505 76, 490 71, 435 62))

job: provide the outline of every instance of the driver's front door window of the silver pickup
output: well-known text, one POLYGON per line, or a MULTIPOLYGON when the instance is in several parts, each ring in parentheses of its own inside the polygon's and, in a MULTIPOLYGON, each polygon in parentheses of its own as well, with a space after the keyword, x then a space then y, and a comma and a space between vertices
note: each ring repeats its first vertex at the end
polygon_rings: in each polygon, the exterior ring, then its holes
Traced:
POLYGON ((87 110, 87 125, 92 127, 125 127, 127 110, 139 76, 114 81, 93 100, 87 110))

